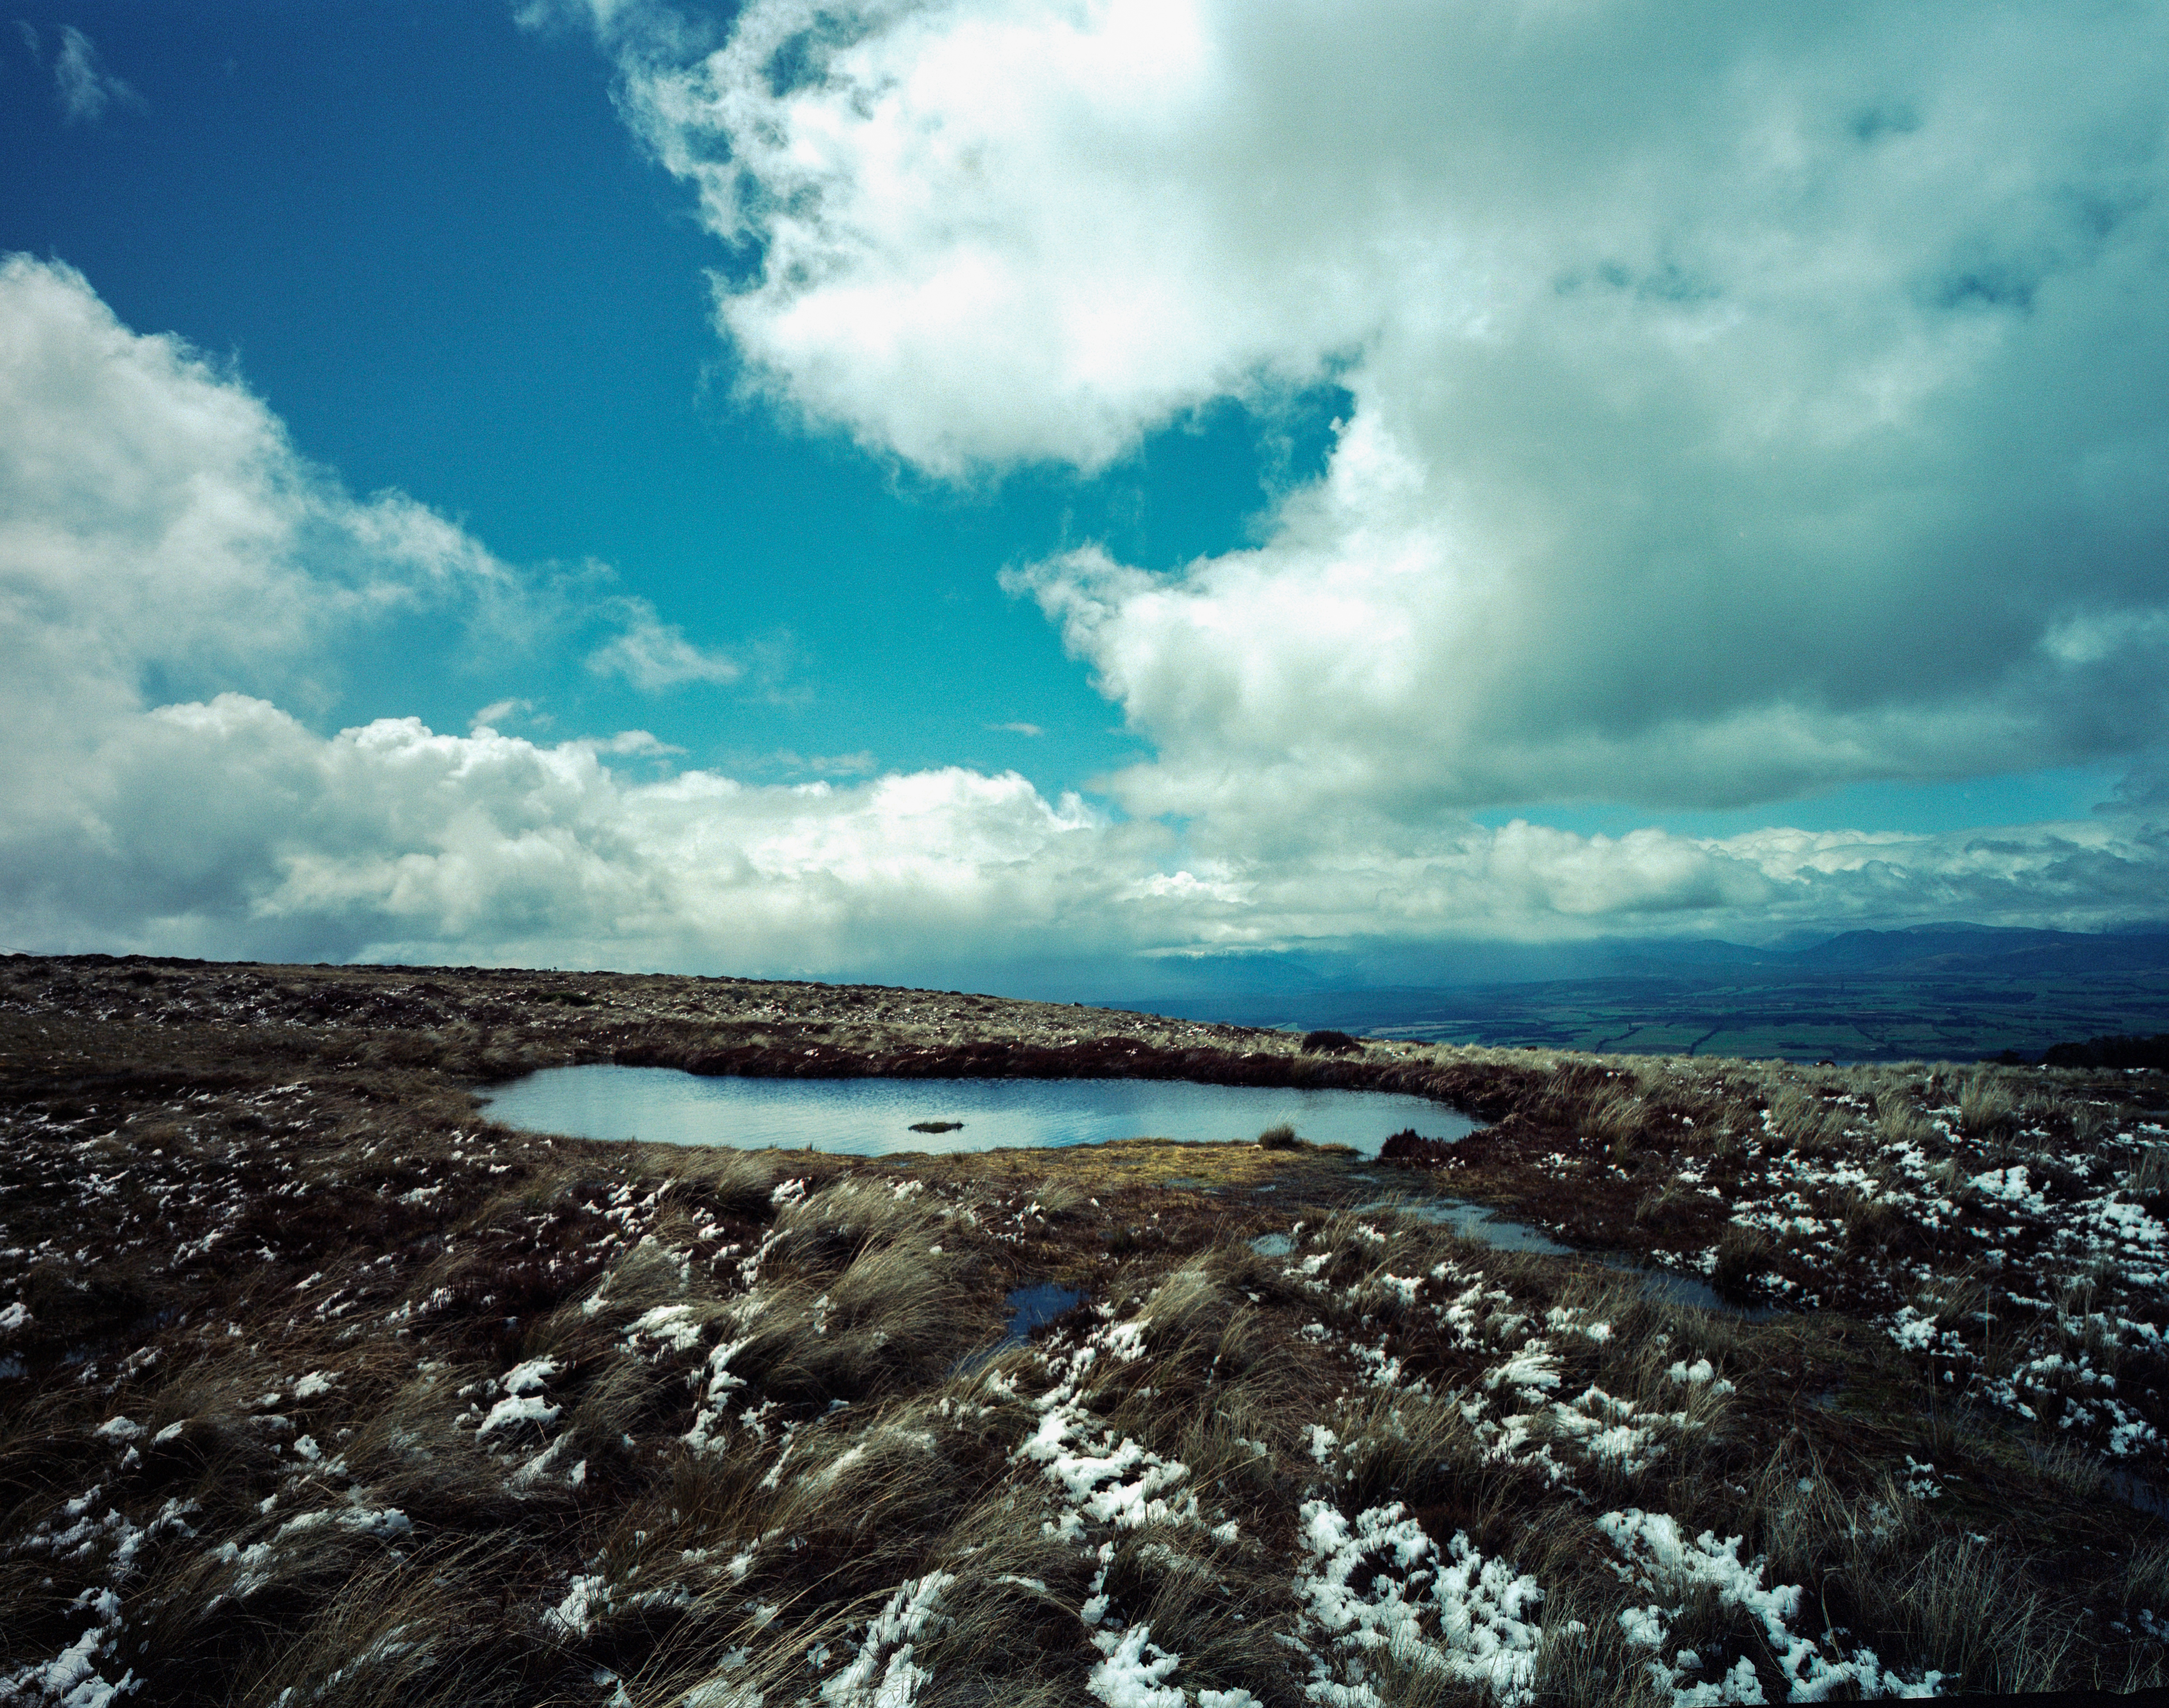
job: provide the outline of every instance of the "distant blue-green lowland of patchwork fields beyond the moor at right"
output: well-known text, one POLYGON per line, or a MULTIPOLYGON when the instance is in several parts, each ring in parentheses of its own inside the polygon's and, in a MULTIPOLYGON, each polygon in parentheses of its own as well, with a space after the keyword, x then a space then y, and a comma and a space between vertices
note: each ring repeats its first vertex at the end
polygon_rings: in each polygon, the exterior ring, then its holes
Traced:
POLYGON ((1635 1055, 1972 1061, 2169 1031, 2169 972, 2054 979, 1568 979, 1249 998, 1217 1018, 1373 1037, 1635 1055))

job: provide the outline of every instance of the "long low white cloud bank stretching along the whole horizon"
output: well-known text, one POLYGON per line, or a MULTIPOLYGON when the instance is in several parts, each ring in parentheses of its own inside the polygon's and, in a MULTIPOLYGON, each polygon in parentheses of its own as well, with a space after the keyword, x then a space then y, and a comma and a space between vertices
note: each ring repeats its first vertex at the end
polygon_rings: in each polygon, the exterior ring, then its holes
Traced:
POLYGON ((2147 914, 2169 875, 2169 838, 2130 820, 1729 840, 1373 825, 1199 859, 1013 773, 629 781, 609 755, 638 747, 412 718, 323 738, 241 694, 158 708, 74 773, 72 816, 11 820, 9 940, 902 977, 1032 953, 2089 927, 2147 914))

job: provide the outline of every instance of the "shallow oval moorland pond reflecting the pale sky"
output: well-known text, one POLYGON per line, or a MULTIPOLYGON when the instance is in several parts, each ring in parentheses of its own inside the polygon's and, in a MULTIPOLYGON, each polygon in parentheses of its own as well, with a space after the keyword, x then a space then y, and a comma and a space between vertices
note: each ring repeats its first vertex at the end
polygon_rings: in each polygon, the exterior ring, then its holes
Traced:
POLYGON ((1475 1131, 1468 1116, 1395 1092, 1193 1085, 1180 1079, 735 1079, 677 1068, 544 1068, 482 1094, 490 1120, 527 1133, 737 1150, 1009 1150, 1108 1139, 1256 1139, 1286 1122, 1312 1144, 1375 1157, 1414 1126, 1475 1131), (950 1131, 915 1133, 931 1122, 950 1131))

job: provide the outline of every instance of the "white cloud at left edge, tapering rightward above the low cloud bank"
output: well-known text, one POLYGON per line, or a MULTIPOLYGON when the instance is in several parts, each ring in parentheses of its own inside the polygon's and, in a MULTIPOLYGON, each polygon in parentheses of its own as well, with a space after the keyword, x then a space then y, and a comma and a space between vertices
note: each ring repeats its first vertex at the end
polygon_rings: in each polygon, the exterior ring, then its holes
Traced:
POLYGON ((315 705, 334 636, 523 597, 412 499, 351 499, 245 386, 124 328, 69 267, 0 260, 0 775, 17 805, 152 686, 315 705))

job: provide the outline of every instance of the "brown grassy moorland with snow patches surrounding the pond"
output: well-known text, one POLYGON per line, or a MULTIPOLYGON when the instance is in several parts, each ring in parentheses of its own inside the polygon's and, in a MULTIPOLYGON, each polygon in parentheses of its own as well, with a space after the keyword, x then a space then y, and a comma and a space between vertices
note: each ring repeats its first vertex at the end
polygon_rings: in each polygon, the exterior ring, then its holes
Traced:
POLYGON ((2160 1684, 2160 1105, 944 992, 0 959, 0 1701, 2160 1684), (605 1059, 1377 1085, 1492 1126, 1395 1172, 479 1120, 477 1081, 605 1059), (998 1346, 1045 1280, 1082 1304, 998 1346))

